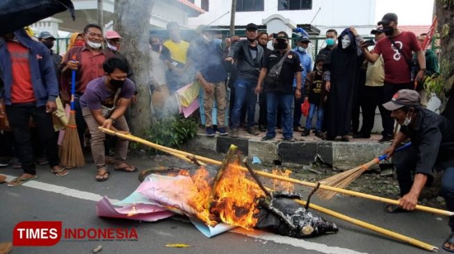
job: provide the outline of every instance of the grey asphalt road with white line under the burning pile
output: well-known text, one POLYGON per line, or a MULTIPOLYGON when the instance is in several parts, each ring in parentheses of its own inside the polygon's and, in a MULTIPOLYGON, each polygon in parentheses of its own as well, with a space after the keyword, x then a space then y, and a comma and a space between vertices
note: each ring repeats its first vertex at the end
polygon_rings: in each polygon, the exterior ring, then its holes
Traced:
MULTIPOLYGON (((134 158, 131 163, 145 169, 160 164, 184 164, 163 156, 134 158)), ((0 173, 19 176, 20 170, 6 167, 0 173)), ((51 247, 14 247, 12 253, 92 253, 92 248, 102 245, 101 253, 427 253, 420 248, 384 237, 371 230, 359 228, 346 221, 321 214, 337 223, 339 232, 309 239, 293 239, 266 232, 248 232, 235 229, 216 237, 207 238, 184 218, 170 218, 148 223, 126 219, 99 218, 96 201, 86 196, 108 196, 121 200, 136 187, 138 173, 111 170, 111 177, 104 183, 95 181, 95 167, 88 162, 85 167, 72 169, 68 176, 53 176, 47 166, 38 167, 38 184, 7 187, 0 185, 0 242, 12 241, 13 228, 20 221, 63 221, 63 228, 135 228, 136 242, 59 242, 51 247), (63 188, 51 189, 47 183, 63 188), (72 190, 79 194, 72 194, 72 190), (87 193, 88 192, 88 193, 87 193), (80 194, 82 193, 82 194, 80 194), (168 248, 165 244, 188 244, 188 248, 168 248)), ((31 183, 31 182, 30 182, 31 183)), ((307 189, 301 189, 304 196, 307 189)), ((96 199, 96 198, 95 198, 96 199)), ((382 228, 414 237, 441 249, 449 234, 447 218, 424 212, 387 214, 383 204, 361 198, 340 197, 334 201, 313 202, 325 208, 347 214, 382 228)), ((314 210, 313 210, 314 212, 314 210)))

